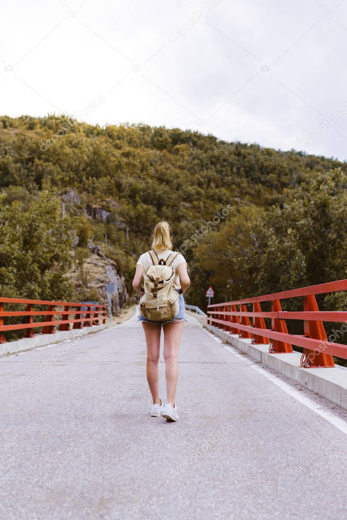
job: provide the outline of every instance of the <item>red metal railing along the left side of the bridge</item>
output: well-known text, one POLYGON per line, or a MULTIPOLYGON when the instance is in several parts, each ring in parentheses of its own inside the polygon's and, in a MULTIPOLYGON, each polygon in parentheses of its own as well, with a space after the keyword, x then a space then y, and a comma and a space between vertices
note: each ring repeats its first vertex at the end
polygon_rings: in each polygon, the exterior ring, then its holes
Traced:
POLYGON ((85 303, 48 302, 45 300, 19 300, 18 298, 0 298, 0 343, 5 343, 4 332, 23 330, 23 337, 33 337, 33 329, 43 327, 42 334, 54 334, 58 330, 82 329, 92 325, 106 323, 105 305, 88 305, 85 303), (11 304, 25 305, 25 310, 5 310, 11 304), (42 306, 45 309, 34 310, 42 306), (48 308, 46 308, 48 307, 48 308), (58 307, 58 309, 56 308, 58 307), (6 318, 18 316, 22 323, 5 324, 6 318), (44 316, 43 321, 33 321, 34 316, 44 316), (71 316, 73 316, 71 318, 71 316), (60 317, 60 319, 56 319, 60 317))

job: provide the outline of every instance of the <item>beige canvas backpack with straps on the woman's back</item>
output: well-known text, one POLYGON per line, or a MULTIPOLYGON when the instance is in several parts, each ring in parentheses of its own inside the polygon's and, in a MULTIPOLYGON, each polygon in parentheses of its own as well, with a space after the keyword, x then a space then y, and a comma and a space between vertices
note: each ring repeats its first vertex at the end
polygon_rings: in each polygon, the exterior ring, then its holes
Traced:
POLYGON ((166 261, 155 251, 148 251, 153 265, 144 274, 145 294, 140 298, 141 314, 150 321, 169 321, 178 314, 178 292, 173 287, 175 270, 172 262, 178 253, 170 253, 166 261), (170 259, 171 258, 171 259, 170 259))

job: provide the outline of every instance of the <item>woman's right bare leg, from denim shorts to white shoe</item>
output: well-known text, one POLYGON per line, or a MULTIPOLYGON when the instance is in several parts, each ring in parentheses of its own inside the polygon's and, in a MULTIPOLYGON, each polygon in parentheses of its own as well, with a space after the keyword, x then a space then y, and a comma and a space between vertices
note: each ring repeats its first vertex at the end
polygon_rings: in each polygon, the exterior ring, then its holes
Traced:
POLYGON ((184 321, 180 323, 166 323, 164 329, 164 360, 166 376, 166 395, 172 406, 175 403, 176 386, 178 379, 178 347, 184 321))

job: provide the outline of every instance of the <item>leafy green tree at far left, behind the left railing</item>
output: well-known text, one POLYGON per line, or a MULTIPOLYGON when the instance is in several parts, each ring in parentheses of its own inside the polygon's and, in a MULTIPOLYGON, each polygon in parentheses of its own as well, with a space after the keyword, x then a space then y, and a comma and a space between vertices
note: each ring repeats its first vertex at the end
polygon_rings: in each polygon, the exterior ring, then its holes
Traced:
POLYGON ((43 192, 28 210, 15 201, 0 210, 0 294, 14 298, 66 300, 66 277, 74 231, 61 205, 43 192))

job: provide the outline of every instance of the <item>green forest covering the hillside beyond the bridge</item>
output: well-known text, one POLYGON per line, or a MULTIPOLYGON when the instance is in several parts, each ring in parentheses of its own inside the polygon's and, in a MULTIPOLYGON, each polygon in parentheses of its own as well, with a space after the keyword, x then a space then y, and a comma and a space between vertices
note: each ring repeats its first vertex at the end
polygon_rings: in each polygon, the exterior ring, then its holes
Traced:
MULTIPOLYGON (((67 272, 91 242, 132 293, 163 219, 188 262, 187 302, 204 309, 210 284, 219 302, 345 278, 346 172, 332 158, 178 128, 2 116, 0 293, 78 297, 67 272)), ((345 296, 320 305, 342 310, 345 296)))

